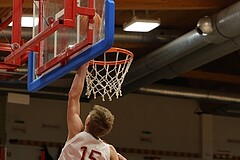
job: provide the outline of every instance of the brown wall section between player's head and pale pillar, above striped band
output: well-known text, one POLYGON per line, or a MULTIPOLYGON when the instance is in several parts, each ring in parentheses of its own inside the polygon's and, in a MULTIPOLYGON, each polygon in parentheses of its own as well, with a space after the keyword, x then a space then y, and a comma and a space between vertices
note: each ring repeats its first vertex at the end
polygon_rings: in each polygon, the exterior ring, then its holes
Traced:
POLYGON ((196 101, 129 94, 112 102, 92 103, 107 106, 115 114, 115 126, 107 140, 117 147, 166 154, 201 152, 196 101))

